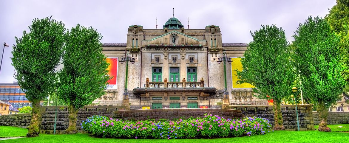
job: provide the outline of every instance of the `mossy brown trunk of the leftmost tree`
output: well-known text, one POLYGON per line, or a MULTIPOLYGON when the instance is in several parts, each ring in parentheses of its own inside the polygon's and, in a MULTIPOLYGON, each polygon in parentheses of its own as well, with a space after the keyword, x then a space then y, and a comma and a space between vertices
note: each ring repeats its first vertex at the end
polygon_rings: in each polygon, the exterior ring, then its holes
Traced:
POLYGON ((31 103, 31 121, 28 127, 27 137, 39 136, 40 100, 33 100, 31 103))

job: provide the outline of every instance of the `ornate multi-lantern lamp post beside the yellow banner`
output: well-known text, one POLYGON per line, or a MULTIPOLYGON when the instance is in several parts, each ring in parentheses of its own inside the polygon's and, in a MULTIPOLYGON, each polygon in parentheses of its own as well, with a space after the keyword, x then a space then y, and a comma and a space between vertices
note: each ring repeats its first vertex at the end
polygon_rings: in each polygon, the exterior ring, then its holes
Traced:
POLYGON ((222 57, 218 58, 218 64, 221 62, 224 63, 224 93, 223 93, 223 105, 222 108, 225 108, 227 105, 229 105, 229 93, 227 89, 227 71, 225 69, 225 62, 228 62, 229 64, 231 63, 231 58, 228 58, 227 53, 225 53, 225 50, 223 50, 223 55, 222 57))

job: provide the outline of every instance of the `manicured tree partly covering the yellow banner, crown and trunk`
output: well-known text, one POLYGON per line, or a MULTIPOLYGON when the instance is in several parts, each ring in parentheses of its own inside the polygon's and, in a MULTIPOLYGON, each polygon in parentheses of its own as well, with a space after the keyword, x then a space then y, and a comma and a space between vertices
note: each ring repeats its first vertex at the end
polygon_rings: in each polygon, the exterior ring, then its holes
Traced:
POLYGON ((241 60, 244 69, 237 71, 238 83, 255 86, 253 92, 257 98, 274 100, 274 130, 284 130, 280 104, 284 97, 291 95, 295 81, 285 32, 275 25, 262 25, 251 35, 253 40, 241 60))

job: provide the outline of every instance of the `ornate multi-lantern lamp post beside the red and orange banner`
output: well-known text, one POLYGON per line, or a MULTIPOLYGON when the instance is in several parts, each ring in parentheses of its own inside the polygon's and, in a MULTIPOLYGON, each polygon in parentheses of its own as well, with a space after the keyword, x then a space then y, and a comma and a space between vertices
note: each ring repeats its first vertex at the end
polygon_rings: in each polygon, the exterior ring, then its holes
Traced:
POLYGON ((125 56, 121 57, 120 63, 126 62, 125 66, 125 90, 124 90, 124 97, 122 98, 122 105, 125 107, 126 110, 129 110, 129 104, 128 104, 128 90, 127 90, 127 76, 128 76, 128 61, 130 61, 132 64, 136 62, 135 58, 129 55, 128 50, 125 51, 125 56))

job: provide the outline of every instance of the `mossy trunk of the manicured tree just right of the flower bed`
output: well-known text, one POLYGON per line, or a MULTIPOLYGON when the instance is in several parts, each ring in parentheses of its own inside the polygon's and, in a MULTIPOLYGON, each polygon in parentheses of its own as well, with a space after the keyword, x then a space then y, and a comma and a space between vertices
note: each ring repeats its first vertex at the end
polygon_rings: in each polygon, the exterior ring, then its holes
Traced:
POLYGON ((274 130, 285 130, 285 127, 283 126, 283 120, 282 120, 282 113, 281 113, 281 102, 278 99, 274 99, 274 105, 273 105, 273 111, 274 111, 274 130))

